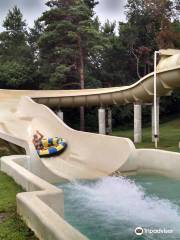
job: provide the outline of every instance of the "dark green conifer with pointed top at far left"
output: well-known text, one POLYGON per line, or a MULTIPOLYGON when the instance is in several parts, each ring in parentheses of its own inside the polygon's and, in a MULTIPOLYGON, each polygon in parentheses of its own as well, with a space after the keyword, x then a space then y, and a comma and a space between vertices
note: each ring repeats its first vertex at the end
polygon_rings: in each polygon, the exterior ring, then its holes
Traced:
POLYGON ((9 10, 0 33, 0 84, 25 88, 33 83, 33 56, 27 43, 26 23, 21 11, 9 10))

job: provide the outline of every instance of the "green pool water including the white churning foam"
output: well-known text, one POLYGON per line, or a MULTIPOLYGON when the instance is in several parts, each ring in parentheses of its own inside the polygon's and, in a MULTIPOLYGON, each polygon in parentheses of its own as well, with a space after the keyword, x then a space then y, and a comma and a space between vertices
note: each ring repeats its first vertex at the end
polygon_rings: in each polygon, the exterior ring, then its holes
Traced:
POLYGON ((65 193, 65 219, 91 240, 180 239, 180 181, 106 177, 60 188, 65 193), (171 233, 136 236, 136 227, 171 233))

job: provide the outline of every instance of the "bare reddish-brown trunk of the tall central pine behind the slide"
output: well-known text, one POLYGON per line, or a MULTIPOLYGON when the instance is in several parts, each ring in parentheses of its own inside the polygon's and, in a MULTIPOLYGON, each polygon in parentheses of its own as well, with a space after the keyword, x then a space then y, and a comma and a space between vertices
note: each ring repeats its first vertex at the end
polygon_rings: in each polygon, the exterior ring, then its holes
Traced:
MULTIPOLYGON (((81 44, 81 37, 78 36, 78 47, 79 47, 79 76, 80 76, 80 86, 84 89, 84 56, 81 44)), ((80 130, 85 130, 85 117, 84 117, 84 107, 80 107, 80 130)))

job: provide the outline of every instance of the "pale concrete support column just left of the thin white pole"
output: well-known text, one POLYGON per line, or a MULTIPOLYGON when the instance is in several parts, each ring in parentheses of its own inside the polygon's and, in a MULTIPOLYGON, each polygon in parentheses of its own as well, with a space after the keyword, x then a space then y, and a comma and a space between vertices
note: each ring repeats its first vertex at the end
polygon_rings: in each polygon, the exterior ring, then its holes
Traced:
POLYGON ((134 142, 142 142, 142 105, 134 104, 134 142))

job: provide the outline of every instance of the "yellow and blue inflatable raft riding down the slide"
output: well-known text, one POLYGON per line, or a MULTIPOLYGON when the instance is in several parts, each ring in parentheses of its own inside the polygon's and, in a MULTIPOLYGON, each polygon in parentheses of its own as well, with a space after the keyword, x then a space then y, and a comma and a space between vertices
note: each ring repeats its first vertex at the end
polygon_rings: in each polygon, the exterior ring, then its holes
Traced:
POLYGON ((63 138, 43 138, 41 146, 43 148, 37 150, 38 155, 40 157, 51 157, 62 153, 66 149, 67 143, 63 138))

